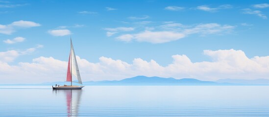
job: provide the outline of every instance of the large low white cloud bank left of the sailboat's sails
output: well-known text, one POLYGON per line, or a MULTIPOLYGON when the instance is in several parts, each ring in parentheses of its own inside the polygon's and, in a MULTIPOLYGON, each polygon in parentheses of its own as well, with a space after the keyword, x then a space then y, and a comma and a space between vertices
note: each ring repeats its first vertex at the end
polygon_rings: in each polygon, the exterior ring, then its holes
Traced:
POLYGON ((61 81, 64 78, 64 75, 61 73, 66 72, 66 64, 67 62, 65 61, 60 61, 51 57, 39 57, 33 59, 31 63, 20 62, 16 66, 0 62, 1 77, 5 78, 1 83, 61 81))

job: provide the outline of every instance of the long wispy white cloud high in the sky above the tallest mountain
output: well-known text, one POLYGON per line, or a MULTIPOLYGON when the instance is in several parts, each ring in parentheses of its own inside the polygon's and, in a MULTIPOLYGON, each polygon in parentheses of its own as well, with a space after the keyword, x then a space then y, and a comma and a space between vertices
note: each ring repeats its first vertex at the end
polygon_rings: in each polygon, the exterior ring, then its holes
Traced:
MULTIPOLYGON (((206 23, 188 26, 181 23, 168 22, 165 25, 157 26, 156 28, 158 28, 156 29, 158 31, 156 31, 155 28, 150 28, 150 30, 145 30, 140 33, 122 34, 116 39, 127 42, 136 40, 139 42, 165 43, 185 38, 187 35, 191 34, 201 34, 204 36, 209 34, 230 33, 235 26, 220 25, 218 23, 206 23)), ((146 27, 146 29, 149 28, 146 27)), ((111 34, 107 33, 107 36, 111 36, 111 34)))

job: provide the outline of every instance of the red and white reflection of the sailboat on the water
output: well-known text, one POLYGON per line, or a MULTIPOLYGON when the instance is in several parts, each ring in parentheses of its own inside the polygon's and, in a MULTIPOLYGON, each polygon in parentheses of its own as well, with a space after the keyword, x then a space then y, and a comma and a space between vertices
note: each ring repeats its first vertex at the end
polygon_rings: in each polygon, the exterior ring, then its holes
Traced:
POLYGON ((67 117, 78 116, 78 108, 80 105, 82 90, 79 89, 53 90, 53 93, 55 93, 55 95, 66 96, 67 117))

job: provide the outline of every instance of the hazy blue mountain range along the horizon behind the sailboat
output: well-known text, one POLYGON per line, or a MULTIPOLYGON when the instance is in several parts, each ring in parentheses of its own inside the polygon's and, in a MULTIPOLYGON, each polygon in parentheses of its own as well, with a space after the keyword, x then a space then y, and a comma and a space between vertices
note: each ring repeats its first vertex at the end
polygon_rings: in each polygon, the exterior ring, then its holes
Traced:
MULTIPOLYGON (((39 85, 68 84, 69 82, 46 82, 39 85)), ((79 85, 75 84, 74 85, 79 85)), ((202 81, 195 78, 160 78, 136 76, 122 80, 85 81, 83 85, 269 85, 268 79, 219 79, 202 81)))

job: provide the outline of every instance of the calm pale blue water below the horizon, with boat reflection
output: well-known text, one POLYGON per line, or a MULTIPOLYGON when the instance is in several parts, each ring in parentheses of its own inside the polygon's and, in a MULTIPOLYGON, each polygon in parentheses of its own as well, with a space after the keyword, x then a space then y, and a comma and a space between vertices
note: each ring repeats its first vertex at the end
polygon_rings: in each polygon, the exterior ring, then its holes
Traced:
POLYGON ((0 86, 0 117, 269 117, 269 86, 0 86))

